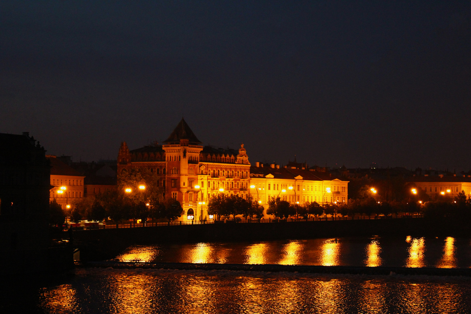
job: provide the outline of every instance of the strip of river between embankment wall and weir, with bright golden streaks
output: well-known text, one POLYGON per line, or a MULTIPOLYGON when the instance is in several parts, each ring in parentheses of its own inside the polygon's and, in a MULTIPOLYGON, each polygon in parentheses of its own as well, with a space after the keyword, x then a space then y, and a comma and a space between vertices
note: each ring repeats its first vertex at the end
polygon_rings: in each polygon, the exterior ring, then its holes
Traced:
POLYGON ((141 245, 120 261, 324 266, 471 267, 471 241, 445 238, 337 238, 141 245))

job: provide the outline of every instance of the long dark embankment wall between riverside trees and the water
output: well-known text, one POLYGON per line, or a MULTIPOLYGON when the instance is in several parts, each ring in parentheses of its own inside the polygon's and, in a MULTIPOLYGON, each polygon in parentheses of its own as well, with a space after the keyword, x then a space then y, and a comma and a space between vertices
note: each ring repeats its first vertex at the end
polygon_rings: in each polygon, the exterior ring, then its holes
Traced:
POLYGON ((74 231, 81 260, 114 258, 133 244, 314 239, 347 236, 471 236, 468 221, 426 218, 172 225, 74 231))

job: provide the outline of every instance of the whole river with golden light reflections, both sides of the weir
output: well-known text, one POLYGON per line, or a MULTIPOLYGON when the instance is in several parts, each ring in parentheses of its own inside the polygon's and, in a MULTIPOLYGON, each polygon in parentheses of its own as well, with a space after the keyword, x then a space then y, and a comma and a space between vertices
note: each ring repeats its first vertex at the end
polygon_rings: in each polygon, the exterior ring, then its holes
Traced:
MULTIPOLYGON (((339 238, 131 247, 122 261, 470 267, 470 241, 339 238)), ((471 313, 471 278, 78 268, 3 284, 0 313, 471 313)))

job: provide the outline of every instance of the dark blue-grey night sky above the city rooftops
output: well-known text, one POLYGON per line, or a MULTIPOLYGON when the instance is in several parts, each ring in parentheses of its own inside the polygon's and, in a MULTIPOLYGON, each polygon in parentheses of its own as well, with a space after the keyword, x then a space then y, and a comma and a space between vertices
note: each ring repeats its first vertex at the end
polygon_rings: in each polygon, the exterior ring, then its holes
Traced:
POLYGON ((249 160, 471 169, 471 1, 1 1, 0 132, 115 159, 182 115, 249 160))

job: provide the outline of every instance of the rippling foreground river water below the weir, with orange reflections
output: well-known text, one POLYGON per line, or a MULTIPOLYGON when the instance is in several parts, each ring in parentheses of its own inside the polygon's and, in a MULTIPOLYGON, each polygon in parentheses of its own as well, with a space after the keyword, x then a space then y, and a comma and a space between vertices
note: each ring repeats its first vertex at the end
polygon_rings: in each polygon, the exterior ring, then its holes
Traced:
POLYGON ((471 313, 471 279, 89 268, 1 299, 1 313, 471 313))

